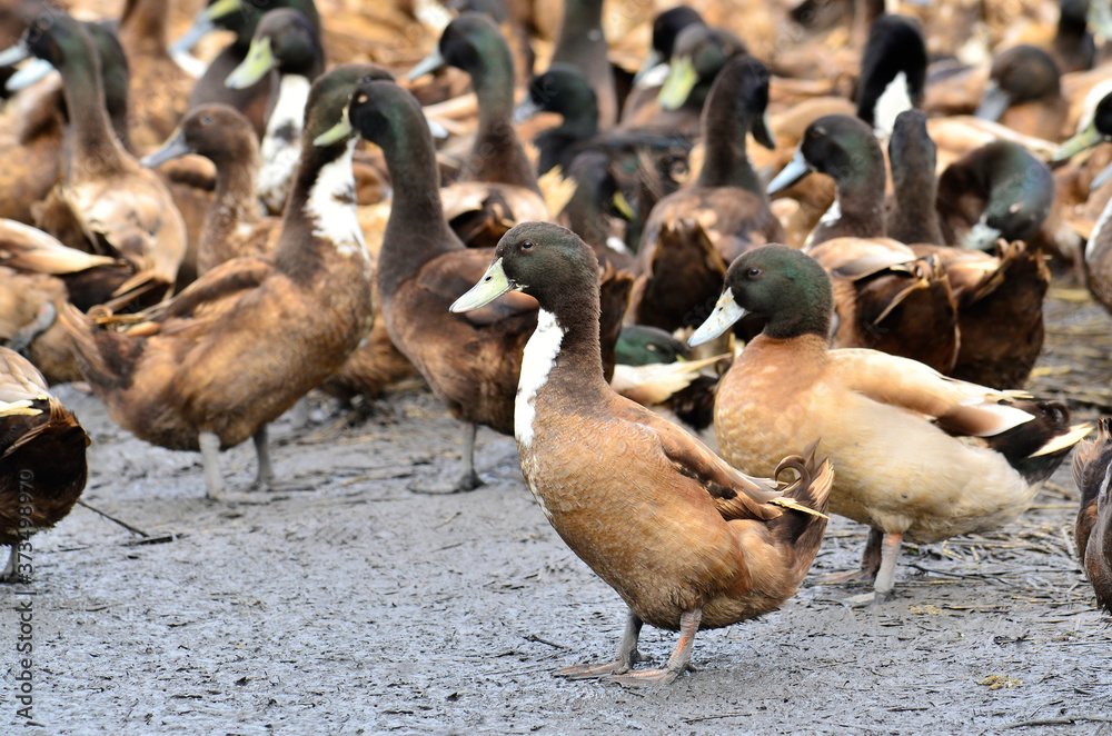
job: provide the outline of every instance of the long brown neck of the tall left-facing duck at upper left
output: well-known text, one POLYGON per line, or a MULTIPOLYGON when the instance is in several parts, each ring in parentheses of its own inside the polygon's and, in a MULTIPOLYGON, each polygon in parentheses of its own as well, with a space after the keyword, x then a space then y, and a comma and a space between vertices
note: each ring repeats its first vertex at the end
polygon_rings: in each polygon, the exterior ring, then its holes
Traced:
POLYGON ((123 149, 108 118, 96 52, 90 49, 85 59, 63 64, 60 72, 75 160, 87 176, 123 168, 123 149))

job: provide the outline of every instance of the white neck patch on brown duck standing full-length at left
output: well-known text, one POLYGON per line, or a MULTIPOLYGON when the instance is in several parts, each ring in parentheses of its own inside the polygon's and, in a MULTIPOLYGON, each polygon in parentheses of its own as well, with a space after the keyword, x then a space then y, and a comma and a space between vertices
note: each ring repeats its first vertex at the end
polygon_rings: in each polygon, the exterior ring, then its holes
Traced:
POLYGON ((367 245, 363 239, 363 228, 359 227, 355 209, 351 155, 356 141, 357 139, 351 137, 345 153, 320 168, 305 203, 305 213, 315 226, 312 235, 330 240, 341 256, 361 253, 369 260, 367 245))

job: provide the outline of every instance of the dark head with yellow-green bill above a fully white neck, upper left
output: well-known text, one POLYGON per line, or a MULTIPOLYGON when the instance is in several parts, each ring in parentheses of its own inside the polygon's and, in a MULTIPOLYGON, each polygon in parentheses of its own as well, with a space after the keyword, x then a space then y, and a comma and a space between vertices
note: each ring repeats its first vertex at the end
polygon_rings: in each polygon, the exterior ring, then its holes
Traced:
POLYGON ((324 70, 324 61, 320 31, 300 11, 279 8, 259 21, 247 56, 228 74, 225 84, 231 89, 247 89, 271 69, 316 79, 324 70))

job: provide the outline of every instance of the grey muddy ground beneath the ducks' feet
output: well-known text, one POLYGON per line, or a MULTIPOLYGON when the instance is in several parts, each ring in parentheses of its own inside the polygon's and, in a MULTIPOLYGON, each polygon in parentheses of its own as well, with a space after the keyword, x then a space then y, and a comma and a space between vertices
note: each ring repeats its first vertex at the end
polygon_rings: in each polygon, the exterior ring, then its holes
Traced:
MULTIPOLYGON (((1049 305, 1034 387, 1092 418, 1112 405, 1112 319, 1080 294, 1049 305)), ((282 488, 248 489, 248 442, 222 456, 222 503, 203 499, 199 456, 60 395, 93 438, 86 500, 173 539, 141 544, 85 508, 34 538, 32 584, 0 589, 2 733, 1112 734, 1110 629, 1075 561, 1068 464, 1007 528, 905 545, 891 601, 805 587, 699 634, 698 672, 642 692, 553 676, 608 659, 624 608, 536 508, 510 438, 480 432, 479 490, 411 491, 459 450, 424 389, 356 426, 316 400, 308 428, 274 426, 282 488), (26 601, 30 728, 12 699, 26 601)), ((851 568, 863 541, 835 520, 813 574, 851 568)), ((642 641, 659 664, 675 636, 642 641)))

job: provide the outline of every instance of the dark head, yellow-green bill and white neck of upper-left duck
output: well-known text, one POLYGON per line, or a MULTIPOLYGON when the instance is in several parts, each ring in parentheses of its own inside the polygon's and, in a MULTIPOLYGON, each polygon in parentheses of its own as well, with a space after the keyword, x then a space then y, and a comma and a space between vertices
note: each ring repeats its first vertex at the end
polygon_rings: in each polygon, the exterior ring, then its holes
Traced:
POLYGON ((270 215, 281 215, 301 156, 301 122, 312 80, 325 70, 320 30, 292 8, 271 10, 255 29, 247 58, 225 84, 248 89, 278 70, 278 98, 260 149, 258 193, 270 215))

